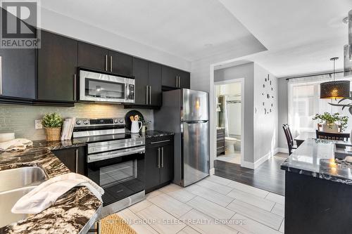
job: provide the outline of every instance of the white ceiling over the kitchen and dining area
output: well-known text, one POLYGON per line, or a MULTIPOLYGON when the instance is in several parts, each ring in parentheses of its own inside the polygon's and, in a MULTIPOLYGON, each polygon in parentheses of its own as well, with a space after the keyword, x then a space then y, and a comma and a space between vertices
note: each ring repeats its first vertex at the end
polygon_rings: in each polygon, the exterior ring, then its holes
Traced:
POLYGON ((260 48, 230 65, 254 61, 288 77, 332 70, 335 56, 343 68, 348 37, 342 19, 352 1, 45 0, 42 6, 188 61, 260 48))

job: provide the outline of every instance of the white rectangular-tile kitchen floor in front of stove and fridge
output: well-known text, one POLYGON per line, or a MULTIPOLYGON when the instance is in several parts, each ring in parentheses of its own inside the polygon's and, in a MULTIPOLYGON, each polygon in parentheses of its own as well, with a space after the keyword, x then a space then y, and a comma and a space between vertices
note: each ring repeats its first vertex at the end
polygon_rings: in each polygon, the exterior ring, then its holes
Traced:
POLYGON ((170 184, 118 214, 139 234, 284 232, 283 196, 218 176, 170 184))

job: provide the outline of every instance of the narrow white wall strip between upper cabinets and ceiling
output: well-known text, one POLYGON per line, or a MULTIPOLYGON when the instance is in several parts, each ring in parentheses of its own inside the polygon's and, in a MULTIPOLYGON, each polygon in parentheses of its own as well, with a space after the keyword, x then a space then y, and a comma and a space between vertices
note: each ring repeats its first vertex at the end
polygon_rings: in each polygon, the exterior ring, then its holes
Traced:
MULTIPOLYGON (((103 15, 101 16, 103 17, 103 15)), ((42 28, 81 41, 112 48, 132 56, 152 60, 156 63, 170 65, 171 67, 176 67, 181 70, 191 70, 191 62, 188 60, 173 56, 157 48, 140 44, 137 41, 121 37, 99 27, 88 25, 85 22, 68 18, 65 15, 49 11, 45 8, 42 8, 42 28)))

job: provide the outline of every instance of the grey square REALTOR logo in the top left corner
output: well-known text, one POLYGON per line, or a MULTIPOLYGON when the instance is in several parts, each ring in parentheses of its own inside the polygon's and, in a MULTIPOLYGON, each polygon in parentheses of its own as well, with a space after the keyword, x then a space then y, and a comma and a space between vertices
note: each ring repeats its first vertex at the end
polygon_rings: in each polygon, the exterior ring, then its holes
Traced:
POLYGON ((0 48, 40 48, 38 1, 1 0, 0 48))

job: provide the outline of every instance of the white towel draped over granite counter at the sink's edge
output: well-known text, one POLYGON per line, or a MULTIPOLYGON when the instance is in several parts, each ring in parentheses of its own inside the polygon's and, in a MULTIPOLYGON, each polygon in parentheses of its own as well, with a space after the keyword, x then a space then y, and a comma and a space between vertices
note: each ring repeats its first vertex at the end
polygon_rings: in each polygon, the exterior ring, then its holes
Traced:
POLYGON ((104 193, 103 188, 98 186, 86 176, 68 173, 50 178, 27 193, 16 202, 11 212, 15 214, 38 214, 54 204, 58 197, 71 188, 77 186, 87 187, 101 202, 104 193))

